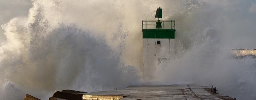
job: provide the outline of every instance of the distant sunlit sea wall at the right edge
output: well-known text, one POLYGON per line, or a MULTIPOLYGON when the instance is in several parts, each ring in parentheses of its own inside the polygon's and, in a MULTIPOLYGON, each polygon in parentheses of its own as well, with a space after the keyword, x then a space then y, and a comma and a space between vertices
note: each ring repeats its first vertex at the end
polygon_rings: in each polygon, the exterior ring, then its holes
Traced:
POLYGON ((232 49, 231 52, 234 56, 256 56, 256 49, 254 50, 232 49))

